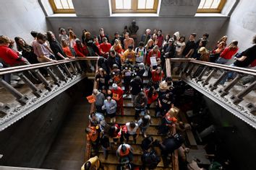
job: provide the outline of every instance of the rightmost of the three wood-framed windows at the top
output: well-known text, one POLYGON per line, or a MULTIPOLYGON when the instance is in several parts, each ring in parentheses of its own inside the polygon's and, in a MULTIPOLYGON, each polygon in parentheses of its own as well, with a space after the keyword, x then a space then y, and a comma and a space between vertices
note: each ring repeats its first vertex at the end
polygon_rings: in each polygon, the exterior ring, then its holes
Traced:
POLYGON ((197 12, 199 13, 221 13, 226 0, 201 0, 197 12))

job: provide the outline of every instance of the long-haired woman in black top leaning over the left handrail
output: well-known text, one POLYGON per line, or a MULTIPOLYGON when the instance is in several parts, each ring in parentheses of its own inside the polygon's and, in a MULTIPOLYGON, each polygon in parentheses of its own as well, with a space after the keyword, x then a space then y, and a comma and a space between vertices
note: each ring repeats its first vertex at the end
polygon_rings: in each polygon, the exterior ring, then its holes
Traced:
POLYGON ((67 56, 65 55, 64 51, 62 50, 62 47, 59 44, 59 42, 56 40, 54 33, 51 31, 48 31, 48 32, 46 32, 46 34, 47 34, 48 42, 50 44, 50 48, 54 52, 56 59, 58 61, 67 59, 67 56))

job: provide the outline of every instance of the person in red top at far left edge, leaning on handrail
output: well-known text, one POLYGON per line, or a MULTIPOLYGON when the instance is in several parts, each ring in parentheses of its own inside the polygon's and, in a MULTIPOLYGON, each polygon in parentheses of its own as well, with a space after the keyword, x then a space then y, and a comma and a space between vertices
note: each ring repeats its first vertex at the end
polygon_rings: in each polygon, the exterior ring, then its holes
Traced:
POLYGON ((28 61, 19 56, 11 48, 9 48, 10 39, 7 36, 0 36, 0 58, 1 62, 6 66, 20 66, 28 64, 28 61))

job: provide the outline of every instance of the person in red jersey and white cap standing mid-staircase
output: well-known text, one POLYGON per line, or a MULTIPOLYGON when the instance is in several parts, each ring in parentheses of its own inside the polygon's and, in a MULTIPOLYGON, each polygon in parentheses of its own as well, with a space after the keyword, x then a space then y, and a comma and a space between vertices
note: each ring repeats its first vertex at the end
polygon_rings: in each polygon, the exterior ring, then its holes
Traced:
POLYGON ((116 113, 120 114, 120 112, 121 112, 121 115, 124 115, 124 107, 123 107, 123 104, 124 104, 124 99, 123 99, 124 91, 121 89, 121 87, 117 86, 117 84, 113 84, 111 92, 113 94, 112 99, 116 100, 116 104, 117 104, 116 113))

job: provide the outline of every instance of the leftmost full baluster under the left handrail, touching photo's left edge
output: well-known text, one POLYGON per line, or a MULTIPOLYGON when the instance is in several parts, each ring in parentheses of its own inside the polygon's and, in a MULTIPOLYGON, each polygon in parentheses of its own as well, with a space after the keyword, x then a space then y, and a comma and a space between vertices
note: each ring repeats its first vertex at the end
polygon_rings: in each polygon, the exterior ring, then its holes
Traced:
POLYGON ((25 105, 27 101, 29 100, 26 95, 23 95, 20 93, 20 91, 17 91, 17 89, 14 89, 13 86, 7 84, 6 81, 3 79, 0 79, 0 85, 4 87, 7 91, 9 91, 14 97, 17 99, 20 104, 25 105))

